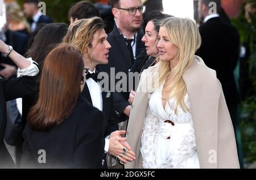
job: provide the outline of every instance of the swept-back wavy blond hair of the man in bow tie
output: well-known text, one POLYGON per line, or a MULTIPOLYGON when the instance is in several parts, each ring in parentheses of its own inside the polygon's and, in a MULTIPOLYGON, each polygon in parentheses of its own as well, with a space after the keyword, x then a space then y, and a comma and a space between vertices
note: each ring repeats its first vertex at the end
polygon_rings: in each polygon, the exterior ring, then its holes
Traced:
MULTIPOLYGON (((80 19, 68 28, 68 33, 63 42, 77 47, 82 56, 85 57, 89 52, 89 48, 92 47, 93 35, 102 30, 104 30, 104 22, 101 18, 80 19)), ((97 38, 98 42, 99 37, 97 38)))

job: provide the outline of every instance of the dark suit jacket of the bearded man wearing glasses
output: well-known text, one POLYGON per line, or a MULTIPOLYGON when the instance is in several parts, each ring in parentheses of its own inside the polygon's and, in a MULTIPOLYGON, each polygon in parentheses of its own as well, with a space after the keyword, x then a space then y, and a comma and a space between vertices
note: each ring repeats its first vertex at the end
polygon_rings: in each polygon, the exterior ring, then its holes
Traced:
MULTIPOLYGON (((144 43, 141 41, 143 35, 143 31, 139 30, 136 41, 136 57, 143 49, 145 49, 144 43)), ((110 45, 112 45, 112 48, 110 48, 109 51, 110 68, 115 69, 115 74, 118 72, 128 74, 131 66, 133 66, 133 63, 130 60, 129 49, 127 47, 125 38, 122 34, 120 34, 116 25, 114 26, 113 31, 108 35, 108 41, 110 45)), ((107 72, 110 74, 109 70, 107 72)), ((114 79, 112 79, 112 81, 114 81, 114 79)), ((115 79, 115 83, 118 81, 118 79, 115 79)), ((128 92, 130 90, 127 89, 126 91, 128 92)), ((127 93, 114 93, 115 110, 117 111, 120 120, 125 120, 127 118, 122 115, 122 112, 125 107, 130 105, 127 101, 128 99, 129 95, 127 96, 127 93)))

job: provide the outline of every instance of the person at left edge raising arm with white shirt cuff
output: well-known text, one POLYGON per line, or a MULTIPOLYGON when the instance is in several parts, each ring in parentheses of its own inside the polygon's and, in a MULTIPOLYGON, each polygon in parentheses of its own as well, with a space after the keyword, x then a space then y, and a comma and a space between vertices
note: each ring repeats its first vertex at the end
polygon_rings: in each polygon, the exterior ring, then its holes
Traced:
POLYGON ((14 162, 3 141, 6 128, 6 101, 20 98, 35 91, 36 81, 34 77, 29 76, 36 76, 39 72, 38 65, 34 61, 27 60, 12 49, 0 40, 0 53, 9 56, 19 67, 18 73, 23 75, 8 80, 0 78, 0 103, 2 107, 0 108, 0 168, 14 168, 14 162))

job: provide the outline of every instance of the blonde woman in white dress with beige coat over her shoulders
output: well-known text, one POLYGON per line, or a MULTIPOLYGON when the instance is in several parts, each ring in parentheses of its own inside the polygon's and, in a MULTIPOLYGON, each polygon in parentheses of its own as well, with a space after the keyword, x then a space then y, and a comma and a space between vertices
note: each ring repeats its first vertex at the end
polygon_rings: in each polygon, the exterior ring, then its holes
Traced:
POLYGON ((196 23, 167 18, 158 39, 160 62, 142 73, 128 123, 136 160, 125 168, 239 168, 221 84, 195 56, 196 23))

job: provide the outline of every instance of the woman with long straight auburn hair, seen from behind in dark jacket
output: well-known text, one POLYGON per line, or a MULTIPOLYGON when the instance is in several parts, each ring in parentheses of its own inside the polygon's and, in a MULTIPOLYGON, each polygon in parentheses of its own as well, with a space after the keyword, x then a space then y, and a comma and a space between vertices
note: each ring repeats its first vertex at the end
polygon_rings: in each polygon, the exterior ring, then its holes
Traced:
POLYGON ((61 44, 49 52, 39 99, 23 132, 22 167, 102 167, 105 117, 82 96, 84 83, 84 62, 76 48, 61 44), (45 153, 42 161, 40 152, 45 153))

